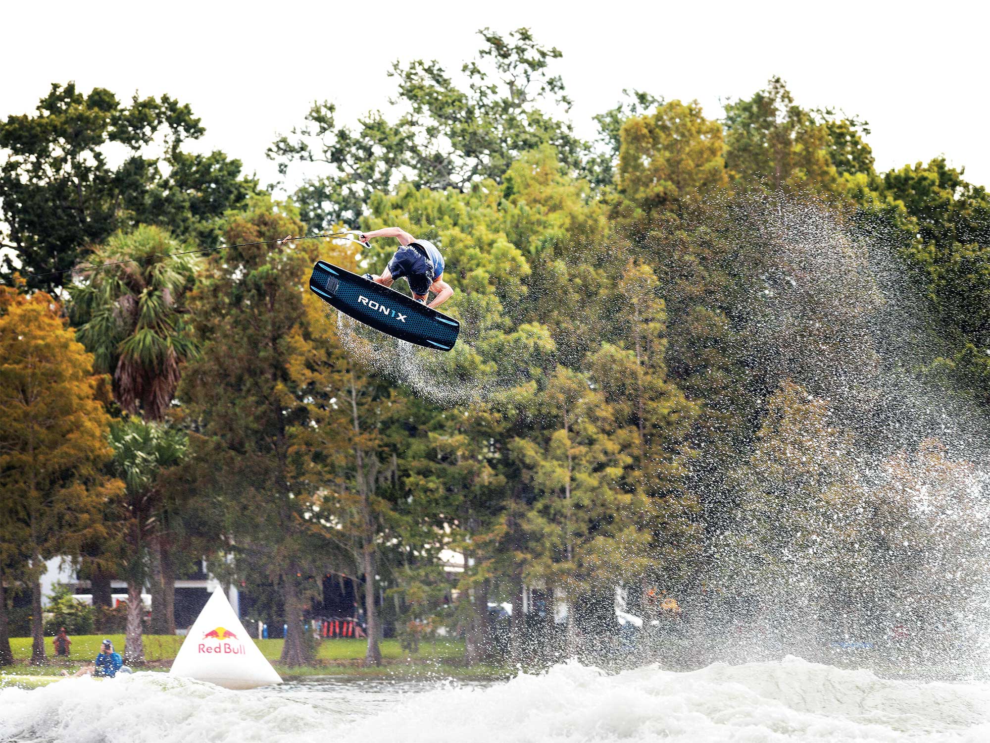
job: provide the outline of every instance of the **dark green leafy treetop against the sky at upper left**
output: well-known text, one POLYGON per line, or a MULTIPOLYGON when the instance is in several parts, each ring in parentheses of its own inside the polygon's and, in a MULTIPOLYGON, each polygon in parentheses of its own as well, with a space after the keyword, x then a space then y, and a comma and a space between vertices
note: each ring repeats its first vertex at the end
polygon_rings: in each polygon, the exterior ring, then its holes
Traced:
MULTIPOLYGON (((0 165, 0 244, 22 269, 43 273, 71 268, 85 247, 142 222, 215 240, 213 221, 243 203, 256 183, 240 178, 239 160, 181 150, 204 132, 189 106, 168 95, 136 94, 128 106, 105 88, 87 95, 73 82, 53 83, 36 116, 0 123, 6 156, 0 165), (154 157, 149 149, 158 142, 164 152, 154 157), (108 161, 115 147, 127 154, 116 168, 108 161)), ((13 259, 4 261, 9 273, 13 259)), ((28 285, 50 291, 65 275, 29 274, 28 285)))

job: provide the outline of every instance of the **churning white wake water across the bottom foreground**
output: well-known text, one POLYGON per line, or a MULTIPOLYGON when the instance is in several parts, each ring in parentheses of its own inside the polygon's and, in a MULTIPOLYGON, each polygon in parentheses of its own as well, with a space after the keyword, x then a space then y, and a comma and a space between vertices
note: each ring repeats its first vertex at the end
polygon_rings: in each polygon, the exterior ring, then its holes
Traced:
POLYGON ((990 685, 887 681, 785 658, 617 675, 568 663, 488 687, 228 691, 161 674, 0 690, 18 741, 985 741, 990 685), (345 737, 346 736, 346 737, 345 737))

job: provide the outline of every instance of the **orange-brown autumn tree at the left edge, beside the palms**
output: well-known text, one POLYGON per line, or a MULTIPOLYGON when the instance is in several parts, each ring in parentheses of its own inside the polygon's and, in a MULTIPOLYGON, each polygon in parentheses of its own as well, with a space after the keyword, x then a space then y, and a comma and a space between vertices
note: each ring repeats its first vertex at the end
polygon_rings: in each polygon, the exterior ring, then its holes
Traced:
POLYGON ((45 662, 41 576, 45 561, 78 555, 106 534, 103 501, 120 491, 103 465, 109 417, 93 357, 46 293, 3 287, 0 315, 0 491, 5 543, 32 588, 32 663, 45 662), (10 527, 13 528, 10 528, 10 527), (18 540, 16 550, 8 540, 18 540))

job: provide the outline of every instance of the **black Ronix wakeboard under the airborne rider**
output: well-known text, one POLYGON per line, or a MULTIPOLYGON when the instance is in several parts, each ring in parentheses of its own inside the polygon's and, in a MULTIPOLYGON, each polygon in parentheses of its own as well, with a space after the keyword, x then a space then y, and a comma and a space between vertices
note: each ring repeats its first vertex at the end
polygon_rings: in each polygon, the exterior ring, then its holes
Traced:
POLYGON ((310 289, 358 322, 428 349, 449 351, 460 332, 460 323, 443 312, 324 261, 313 266, 310 289))

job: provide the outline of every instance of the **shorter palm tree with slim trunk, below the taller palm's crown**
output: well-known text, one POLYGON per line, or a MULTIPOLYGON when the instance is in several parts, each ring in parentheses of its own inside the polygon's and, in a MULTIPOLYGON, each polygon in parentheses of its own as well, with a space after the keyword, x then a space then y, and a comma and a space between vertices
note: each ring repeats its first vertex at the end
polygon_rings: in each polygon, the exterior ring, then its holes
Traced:
POLYGON ((140 663, 145 660, 141 593, 148 578, 148 540, 155 533, 162 497, 158 476, 182 461, 188 439, 182 431, 131 417, 111 425, 110 446, 114 450, 113 474, 124 480, 126 487, 114 514, 124 527, 121 565, 128 593, 125 660, 140 663))

